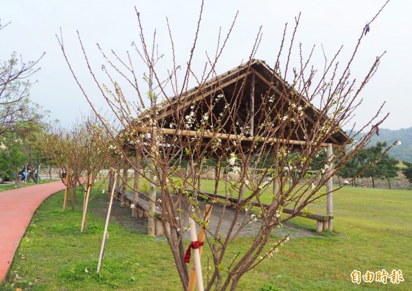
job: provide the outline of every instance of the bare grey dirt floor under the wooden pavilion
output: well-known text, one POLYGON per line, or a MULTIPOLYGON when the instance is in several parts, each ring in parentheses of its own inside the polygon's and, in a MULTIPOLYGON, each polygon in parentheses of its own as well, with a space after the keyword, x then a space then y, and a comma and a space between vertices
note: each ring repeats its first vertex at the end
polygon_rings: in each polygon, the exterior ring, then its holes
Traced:
MULTIPOLYGON (((107 209, 108 209, 108 198, 98 198, 97 200, 98 205, 101 207, 96 207, 93 209, 90 209, 90 211, 93 211, 94 213, 98 214, 98 216, 102 216, 102 218, 106 218, 107 215, 107 209)), ((201 202, 201 209, 205 206, 204 202, 201 202)), ((113 207, 111 210, 111 221, 119 222, 122 224, 127 231, 130 232, 138 232, 138 233, 144 233, 146 234, 148 232, 148 218, 132 218, 131 217, 131 209, 130 207, 121 207, 120 202, 118 200, 113 201, 113 207)), ((218 218, 220 217, 220 214, 222 213, 222 207, 218 205, 213 205, 212 212, 211 212, 211 218, 209 222, 208 229, 212 233, 216 230, 216 225, 218 224, 218 218)), ((250 215, 250 214, 249 214, 250 215)), ((220 233, 222 236, 227 235, 227 231, 231 225, 231 222, 233 222, 234 219, 234 211, 231 209, 231 207, 226 207, 225 209, 225 216, 224 219, 222 220, 222 225, 220 226, 220 233)), ((244 219, 244 216, 240 216, 238 218, 238 222, 242 221, 244 219)), ((188 224, 188 222, 187 222, 188 224)), ((316 222, 313 221, 314 224, 314 229, 316 227, 316 222)), ((247 224, 244 229, 240 232, 240 236, 254 236, 256 233, 258 233, 260 226, 260 220, 256 222, 252 222, 251 224, 247 224)), ((312 236, 317 236, 314 231, 307 231, 304 229, 298 229, 297 227, 289 224, 288 222, 285 222, 280 229, 274 229, 273 230, 274 235, 278 235, 279 237, 285 236, 290 234, 290 237, 312 237, 312 236)), ((186 232, 187 238, 189 238, 189 231, 186 232)))

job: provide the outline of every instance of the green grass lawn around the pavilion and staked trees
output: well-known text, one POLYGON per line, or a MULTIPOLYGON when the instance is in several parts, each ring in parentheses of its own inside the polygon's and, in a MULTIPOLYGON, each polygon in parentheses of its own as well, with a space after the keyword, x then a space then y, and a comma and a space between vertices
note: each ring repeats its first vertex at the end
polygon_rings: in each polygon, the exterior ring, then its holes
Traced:
MULTIPOLYGON (((205 191, 210 182, 203 181, 205 191)), ((104 216, 88 214, 80 233, 78 210, 62 211, 62 192, 36 211, 0 290, 181 290, 165 237, 130 231, 111 221, 106 255, 98 264, 104 216), (13 284, 13 285, 12 285, 13 284)), ((92 200, 102 207, 105 194, 92 200)), ((334 233, 315 233, 316 222, 294 218, 293 226, 310 231, 282 246, 272 259, 244 275, 238 290, 412 290, 412 191, 345 187, 334 194, 334 233), (350 273, 402 270, 404 282, 352 283, 350 273)), ((311 210, 324 213, 325 201, 311 210)), ((125 218, 130 220, 130 218, 125 218)), ((276 233, 274 233, 274 236, 276 233)), ((241 237, 242 251, 253 238, 241 237)), ((205 247, 203 262, 209 252, 205 247)), ((205 281, 207 270, 203 270, 205 281)))

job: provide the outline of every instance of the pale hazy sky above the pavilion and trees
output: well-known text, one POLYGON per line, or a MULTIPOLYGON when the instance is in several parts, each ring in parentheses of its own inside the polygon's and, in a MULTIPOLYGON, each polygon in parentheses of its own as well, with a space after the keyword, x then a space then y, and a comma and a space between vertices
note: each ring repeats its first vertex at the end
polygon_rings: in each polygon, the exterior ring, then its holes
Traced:
MULTIPOLYGON (((315 45, 312 65, 323 69, 322 47, 330 59, 342 45, 340 62, 345 65, 363 27, 384 3, 384 0, 205 1, 200 37, 194 52, 194 70, 201 73, 207 60, 205 52, 214 55, 220 27, 222 34, 226 34, 236 12, 239 12, 238 18, 218 62, 218 73, 237 67, 249 58, 261 26, 262 40, 255 58, 273 66, 284 25, 288 23, 290 36, 299 12, 301 19, 296 41, 302 43, 306 56, 315 45)), ((159 52, 164 54, 160 69, 168 69, 173 58, 168 23, 175 45, 176 64, 184 66, 201 10, 199 0, 2 0, 1 24, 11 23, 0 31, 0 60, 7 60, 16 51, 23 62, 28 62, 38 59, 45 51, 39 62, 41 71, 30 79, 35 82, 30 96, 34 102, 50 110, 52 119, 59 119, 63 126, 70 126, 76 119, 89 115, 91 108, 69 71, 56 34, 60 36, 61 30, 69 60, 91 102, 105 111, 107 107, 103 105, 104 101, 87 73, 77 31, 93 69, 100 77, 104 60, 97 43, 105 51, 113 49, 123 57, 126 51, 133 51, 133 42, 139 43, 135 8, 140 13, 148 40, 152 39, 156 30, 159 52)), ((391 0, 363 39, 351 71, 356 80, 365 76, 376 56, 384 51, 386 53, 374 78, 362 92, 363 103, 353 119, 357 127, 374 116, 383 102, 386 102, 383 113, 389 113, 389 117, 382 128, 396 130, 412 126, 412 119, 408 118, 412 108, 409 89, 412 84, 411 12, 412 1, 391 0)), ((132 56, 139 64, 137 54, 132 56)), ((292 58, 292 67, 295 67, 293 62, 297 67, 298 61, 292 58)), ((143 78, 144 67, 138 65, 136 69, 137 75, 143 78)), ((127 94, 129 100, 135 97, 132 91, 127 91, 127 94)))

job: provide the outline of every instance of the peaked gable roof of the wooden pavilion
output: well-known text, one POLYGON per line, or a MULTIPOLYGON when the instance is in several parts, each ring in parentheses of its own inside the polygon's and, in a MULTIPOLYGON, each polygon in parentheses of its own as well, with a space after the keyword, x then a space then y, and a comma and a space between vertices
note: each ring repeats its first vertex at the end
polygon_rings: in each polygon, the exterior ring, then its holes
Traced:
MULTIPOLYGON (((223 139, 237 139, 238 135, 242 135, 242 141, 246 143, 253 138, 253 128, 258 128, 262 120, 267 117, 271 117, 273 122, 276 121, 276 115, 285 111, 285 106, 295 104, 295 106, 301 106, 303 109, 305 130, 310 132, 314 124, 317 123, 320 117, 319 110, 308 102, 305 97, 297 95, 295 93, 294 100, 282 100, 282 98, 290 98, 293 91, 286 82, 283 82, 273 70, 266 65, 262 60, 251 60, 239 67, 233 68, 215 78, 205 82, 203 86, 196 86, 183 93, 180 97, 173 97, 170 100, 162 102, 159 106, 157 115, 157 121, 159 127, 163 130, 163 135, 173 135, 175 129, 171 124, 174 124, 177 119, 181 119, 190 114, 191 106, 196 104, 196 114, 194 119, 200 124, 204 113, 210 110, 210 105, 214 104, 212 108, 212 115, 219 116, 222 112, 225 104, 229 104, 229 107, 236 108, 236 120, 225 122, 220 127, 218 132, 211 130, 208 135, 215 137, 216 134, 223 137, 223 139), (216 102, 216 96, 223 96, 225 100, 220 99, 216 102), (252 95, 254 97, 252 97, 252 95), (268 97, 273 96, 273 102, 268 103, 268 97), (265 99, 266 98, 266 99, 265 99), (213 100, 213 101, 212 101, 213 100), (266 100, 266 101, 264 101, 266 100), (279 102, 282 100, 282 102, 279 102), (251 119, 251 113, 254 113, 254 118, 251 119), (247 130, 248 132, 245 134, 247 130), (252 129, 250 129, 252 128, 252 129), (251 136, 251 137, 249 137, 251 136)), ((209 111, 210 112, 210 111, 209 111)), ((211 117, 209 117, 211 118, 211 117)), ((148 125, 148 119, 145 115, 141 115, 139 118, 143 124, 148 125)), ((211 123, 213 121, 210 119, 211 123)), ((192 128, 181 128, 181 132, 187 137, 196 135, 196 122, 192 128)), ((306 141, 303 137, 303 129, 294 130, 294 132, 288 132, 288 143, 290 144, 304 144, 306 141), (299 131, 300 130, 300 131, 299 131), (291 135, 290 135, 291 134, 291 135)), ((143 130, 144 131, 144 130, 143 130)), ((203 137, 207 135, 203 134, 203 137)), ((284 139, 279 133, 278 139, 284 139)), ((341 145, 347 141, 349 137, 343 132, 338 130, 329 139, 323 141, 323 143, 333 143, 341 145)))

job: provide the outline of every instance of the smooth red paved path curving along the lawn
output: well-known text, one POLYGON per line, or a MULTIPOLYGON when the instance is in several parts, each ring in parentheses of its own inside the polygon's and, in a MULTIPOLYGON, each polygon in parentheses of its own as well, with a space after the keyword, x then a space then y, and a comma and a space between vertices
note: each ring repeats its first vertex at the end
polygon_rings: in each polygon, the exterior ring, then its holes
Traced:
POLYGON ((0 282, 12 259, 34 211, 50 195, 65 189, 62 181, 0 191, 0 282))

